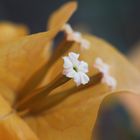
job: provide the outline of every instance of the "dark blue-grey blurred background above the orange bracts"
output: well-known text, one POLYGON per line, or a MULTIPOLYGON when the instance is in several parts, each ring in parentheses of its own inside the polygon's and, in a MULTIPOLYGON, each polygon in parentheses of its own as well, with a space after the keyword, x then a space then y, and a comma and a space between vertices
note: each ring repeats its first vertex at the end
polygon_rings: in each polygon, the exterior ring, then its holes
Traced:
MULTIPOLYGON (((27 25, 31 33, 44 31, 49 15, 68 0, 0 0, 0 20, 27 25)), ((105 38, 126 53, 140 38, 139 0, 78 0, 73 26, 105 38)))

